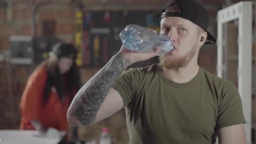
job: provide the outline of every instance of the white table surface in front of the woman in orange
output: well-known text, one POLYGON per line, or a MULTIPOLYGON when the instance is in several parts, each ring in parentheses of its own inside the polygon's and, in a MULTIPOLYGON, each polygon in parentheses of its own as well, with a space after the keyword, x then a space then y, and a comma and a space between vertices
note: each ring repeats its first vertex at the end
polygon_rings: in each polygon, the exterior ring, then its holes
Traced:
POLYGON ((57 144, 58 138, 40 136, 38 131, 0 130, 0 144, 57 144))

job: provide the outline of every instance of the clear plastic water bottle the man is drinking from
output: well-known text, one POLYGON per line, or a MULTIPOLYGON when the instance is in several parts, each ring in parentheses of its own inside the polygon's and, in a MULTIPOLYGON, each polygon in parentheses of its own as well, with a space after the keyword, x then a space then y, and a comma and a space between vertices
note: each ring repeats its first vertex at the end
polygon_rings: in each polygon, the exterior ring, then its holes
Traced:
POLYGON ((125 48, 132 51, 150 52, 154 48, 160 47, 162 51, 158 55, 163 55, 173 50, 173 45, 169 37, 136 24, 126 26, 120 32, 120 39, 125 48))

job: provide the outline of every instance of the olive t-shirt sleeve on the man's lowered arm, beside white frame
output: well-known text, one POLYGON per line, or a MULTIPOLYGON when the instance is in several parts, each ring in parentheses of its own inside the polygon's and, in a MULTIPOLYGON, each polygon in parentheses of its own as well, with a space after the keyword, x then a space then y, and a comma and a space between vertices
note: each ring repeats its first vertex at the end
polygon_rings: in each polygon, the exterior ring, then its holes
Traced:
POLYGON ((242 101, 234 84, 223 91, 219 105, 216 129, 245 123, 242 101))

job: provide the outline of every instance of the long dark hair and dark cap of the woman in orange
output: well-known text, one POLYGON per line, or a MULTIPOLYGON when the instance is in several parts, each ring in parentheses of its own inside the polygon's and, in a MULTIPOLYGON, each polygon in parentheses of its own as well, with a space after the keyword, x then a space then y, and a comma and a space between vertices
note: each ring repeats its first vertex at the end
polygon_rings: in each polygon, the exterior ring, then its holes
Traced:
POLYGON ((75 94, 74 90, 79 90, 80 72, 75 63, 75 59, 76 51, 73 45, 58 43, 53 47, 53 51, 45 63, 48 68, 48 76, 43 90, 43 100, 45 104, 48 102, 52 87, 56 89, 60 99, 67 95, 73 96, 73 94, 75 94), (61 75, 57 65, 61 57, 69 57, 74 60, 69 71, 64 75, 61 75))

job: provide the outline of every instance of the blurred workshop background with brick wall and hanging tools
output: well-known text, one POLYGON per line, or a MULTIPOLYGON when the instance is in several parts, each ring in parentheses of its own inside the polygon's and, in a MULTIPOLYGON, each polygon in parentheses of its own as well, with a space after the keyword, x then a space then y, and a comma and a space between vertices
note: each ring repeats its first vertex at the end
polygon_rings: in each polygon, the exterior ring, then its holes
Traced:
MULTIPOLYGON (((208 30, 215 36, 217 12, 240 2, 197 1, 208 10, 208 30)), ((169 0, 0 0, 0 129, 19 129, 19 102, 27 78, 37 64, 48 57, 48 52, 55 43, 75 45, 78 51, 76 63, 84 84, 119 51, 122 45, 119 33, 128 24, 139 24, 159 32, 159 16, 168 2, 169 0)), ((256 11, 254 6, 253 11, 256 11)), ((230 48, 228 51, 237 54, 237 23, 231 21, 225 27, 229 35, 225 40, 230 48)), ((253 22, 253 56, 254 35, 253 22)), ((233 60, 237 59, 233 57, 233 60)), ((131 67, 147 66, 157 61, 155 57, 131 67)), ((203 46, 198 63, 216 74, 217 45, 203 46)), ((234 72, 236 69, 237 63, 230 62, 226 78, 237 85, 237 73, 234 72)), ((255 122, 254 97, 253 94, 252 123, 255 122)), ((74 139, 91 141, 99 139, 103 127, 109 128, 109 133, 116 139, 116 144, 125 144, 129 141, 123 110, 86 128, 74 130, 70 126, 68 133, 74 139)), ((254 133, 254 128, 252 131, 254 133)))

